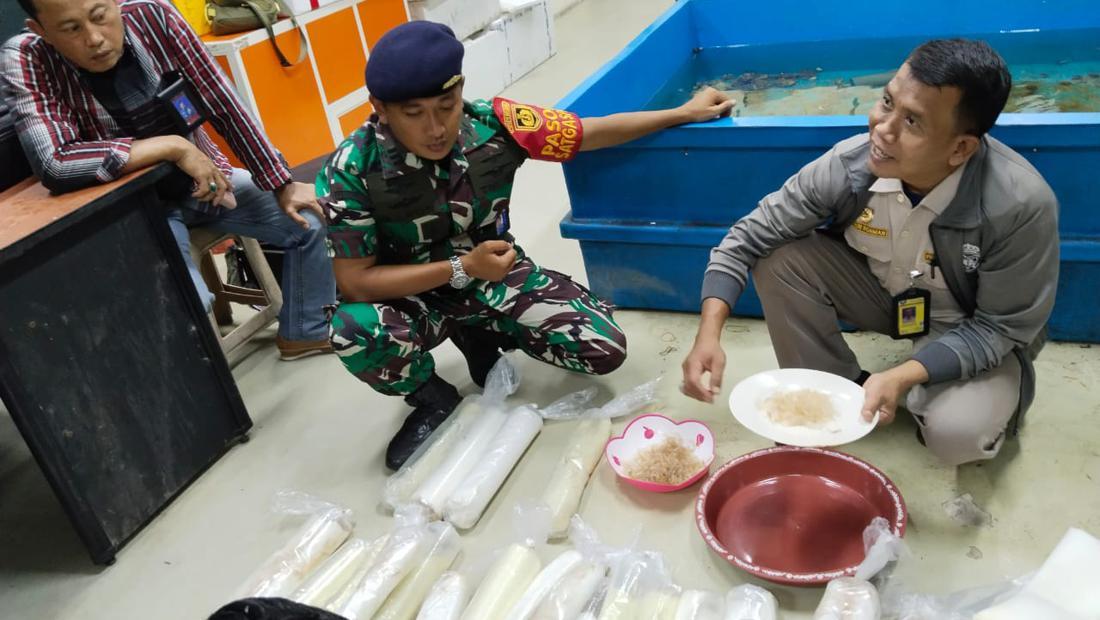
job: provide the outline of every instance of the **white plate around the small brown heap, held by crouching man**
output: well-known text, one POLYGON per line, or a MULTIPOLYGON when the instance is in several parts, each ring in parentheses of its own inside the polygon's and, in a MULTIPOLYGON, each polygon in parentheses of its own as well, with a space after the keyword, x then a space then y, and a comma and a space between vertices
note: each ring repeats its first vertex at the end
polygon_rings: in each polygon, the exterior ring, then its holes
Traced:
POLYGON ((734 418, 754 433, 787 445, 823 447, 851 443, 875 429, 879 417, 862 417, 864 388, 854 381, 821 370, 782 368, 752 375, 729 392, 734 418), (836 419, 823 428, 787 427, 773 422, 763 411, 763 401, 776 394, 813 389, 828 395, 836 419))

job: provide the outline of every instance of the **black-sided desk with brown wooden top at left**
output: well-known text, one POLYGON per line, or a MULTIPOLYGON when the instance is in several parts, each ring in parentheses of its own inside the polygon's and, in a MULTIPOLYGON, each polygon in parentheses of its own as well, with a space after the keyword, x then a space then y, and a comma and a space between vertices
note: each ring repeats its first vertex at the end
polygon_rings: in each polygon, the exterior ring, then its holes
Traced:
POLYGON ((252 425, 156 197, 167 173, 0 193, 0 398, 99 564, 252 425))

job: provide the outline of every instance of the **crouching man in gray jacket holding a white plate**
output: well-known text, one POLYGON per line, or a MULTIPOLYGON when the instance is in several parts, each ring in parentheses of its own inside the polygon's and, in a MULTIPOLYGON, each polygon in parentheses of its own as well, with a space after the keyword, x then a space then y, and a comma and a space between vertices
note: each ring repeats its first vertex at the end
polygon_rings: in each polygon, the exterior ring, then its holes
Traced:
POLYGON ((922 442, 948 464, 996 456, 1033 399, 1058 281, 1054 193, 987 135, 1011 86, 983 42, 913 51, 869 133, 806 165, 714 248, 683 391, 717 394, 718 336, 751 269, 781 367, 864 385, 864 417, 880 423, 905 398, 922 442), (914 353, 871 375, 838 319, 912 339, 914 353))

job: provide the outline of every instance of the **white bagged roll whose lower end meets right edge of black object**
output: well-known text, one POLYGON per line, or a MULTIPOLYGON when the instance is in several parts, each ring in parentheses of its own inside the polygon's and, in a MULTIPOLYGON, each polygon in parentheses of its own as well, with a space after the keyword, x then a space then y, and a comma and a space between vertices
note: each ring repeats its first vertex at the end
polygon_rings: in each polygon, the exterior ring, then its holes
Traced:
POLYGON ((394 530, 377 562, 355 587, 354 593, 337 613, 348 620, 370 620, 382 608, 386 597, 424 562, 431 543, 439 540, 439 521, 427 525, 406 525, 394 530))

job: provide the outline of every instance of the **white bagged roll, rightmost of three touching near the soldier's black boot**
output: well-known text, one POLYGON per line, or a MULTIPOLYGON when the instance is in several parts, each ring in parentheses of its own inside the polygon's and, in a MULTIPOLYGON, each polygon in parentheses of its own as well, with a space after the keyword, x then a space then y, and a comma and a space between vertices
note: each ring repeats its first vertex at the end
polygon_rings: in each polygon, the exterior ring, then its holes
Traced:
POLYGON ((463 530, 476 525, 541 430, 542 418, 534 409, 519 407, 508 413, 487 451, 448 498, 443 518, 463 530))

